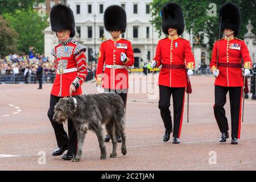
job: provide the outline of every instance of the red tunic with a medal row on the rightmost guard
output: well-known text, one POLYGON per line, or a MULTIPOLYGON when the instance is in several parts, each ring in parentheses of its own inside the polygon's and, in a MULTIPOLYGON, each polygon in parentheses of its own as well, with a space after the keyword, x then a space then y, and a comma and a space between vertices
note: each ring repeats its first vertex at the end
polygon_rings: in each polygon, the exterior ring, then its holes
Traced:
POLYGON ((249 50, 243 40, 225 38, 218 40, 213 47, 210 69, 219 69, 220 74, 216 77, 214 85, 218 86, 243 86, 243 75, 241 68, 218 67, 218 63, 244 63, 244 68, 251 69, 252 63, 249 50), (217 51, 218 50, 218 51, 217 51))

